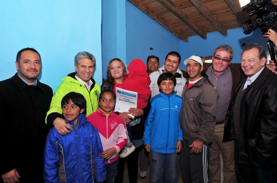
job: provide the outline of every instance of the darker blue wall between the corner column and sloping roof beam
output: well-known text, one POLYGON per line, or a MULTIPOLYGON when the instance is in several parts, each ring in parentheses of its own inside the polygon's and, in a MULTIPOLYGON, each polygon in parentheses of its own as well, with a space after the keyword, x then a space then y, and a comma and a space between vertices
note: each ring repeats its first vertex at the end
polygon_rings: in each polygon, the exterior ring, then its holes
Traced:
POLYGON ((148 55, 155 55, 162 66, 169 52, 181 54, 182 41, 129 1, 126 1, 126 30, 127 63, 136 58, 146 62, 148 55))

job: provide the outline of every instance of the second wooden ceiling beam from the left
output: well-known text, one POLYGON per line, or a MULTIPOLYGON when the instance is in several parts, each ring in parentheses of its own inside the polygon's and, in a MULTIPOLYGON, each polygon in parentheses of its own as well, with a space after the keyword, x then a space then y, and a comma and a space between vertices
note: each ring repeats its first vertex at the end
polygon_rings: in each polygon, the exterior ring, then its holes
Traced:
POLYGON ((169 9, 175 16, 182 20, 192 31, 197 33, 203 39, 207 39, 207 32, 203 31, 189 16, 182 12, 171 0, 158 0, 162 5, 169 9))

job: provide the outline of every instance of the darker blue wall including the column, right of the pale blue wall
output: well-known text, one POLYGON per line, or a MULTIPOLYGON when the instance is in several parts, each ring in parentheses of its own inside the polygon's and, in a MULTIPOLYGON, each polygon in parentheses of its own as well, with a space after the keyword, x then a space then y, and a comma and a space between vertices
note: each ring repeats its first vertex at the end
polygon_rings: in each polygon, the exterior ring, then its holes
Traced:
POLYGON ((102 0, 102 7, 103 78, 113 58, 120 58, 128 66, 133 59, 146 63, 148 55, 156 55, 162 66, 167 53, 180 53, 181 40, 129 1, 102 0))

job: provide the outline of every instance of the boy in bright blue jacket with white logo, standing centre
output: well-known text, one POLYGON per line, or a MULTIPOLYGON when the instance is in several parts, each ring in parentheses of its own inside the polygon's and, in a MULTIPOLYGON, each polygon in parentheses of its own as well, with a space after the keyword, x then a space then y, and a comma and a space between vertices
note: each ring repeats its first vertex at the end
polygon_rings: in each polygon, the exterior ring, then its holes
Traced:
POLYGON ((177 153, 181 151, 182 98, 176 95, 176 78, 162 73, 157 80, 160 94, 150 100, 151 109, 145 121, 143 140, 150 159, 151 183, 177 182, 177 153))

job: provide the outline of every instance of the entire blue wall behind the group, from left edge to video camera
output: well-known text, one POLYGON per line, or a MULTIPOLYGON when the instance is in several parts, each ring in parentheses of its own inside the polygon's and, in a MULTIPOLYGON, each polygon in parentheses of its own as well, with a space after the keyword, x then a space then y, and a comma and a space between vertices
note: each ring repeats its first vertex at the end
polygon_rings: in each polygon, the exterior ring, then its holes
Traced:
POLYGON ((267 49, 259 29, 249 35, 242 29, 229 30, 227 37, 208 33, 207 40, 193 36, 185 43, 127 0, 0 1, 0 11, 0 80, 17 72, 18 50, 34 47, 42 58, 39 79, 54 91, 63 77, 74 72, 79 51, 96 57, 93 77, 102 84, 108 61, 116 57, 128 65, 135 58, 146 62, 152 54, 162 66, 166 54, 177 51, 180 68, 185 68, 183 61, 190 55, 210 56, 221 44, 234 48, 233 62, 240 62, 243 43, 263 44, 267 49))

